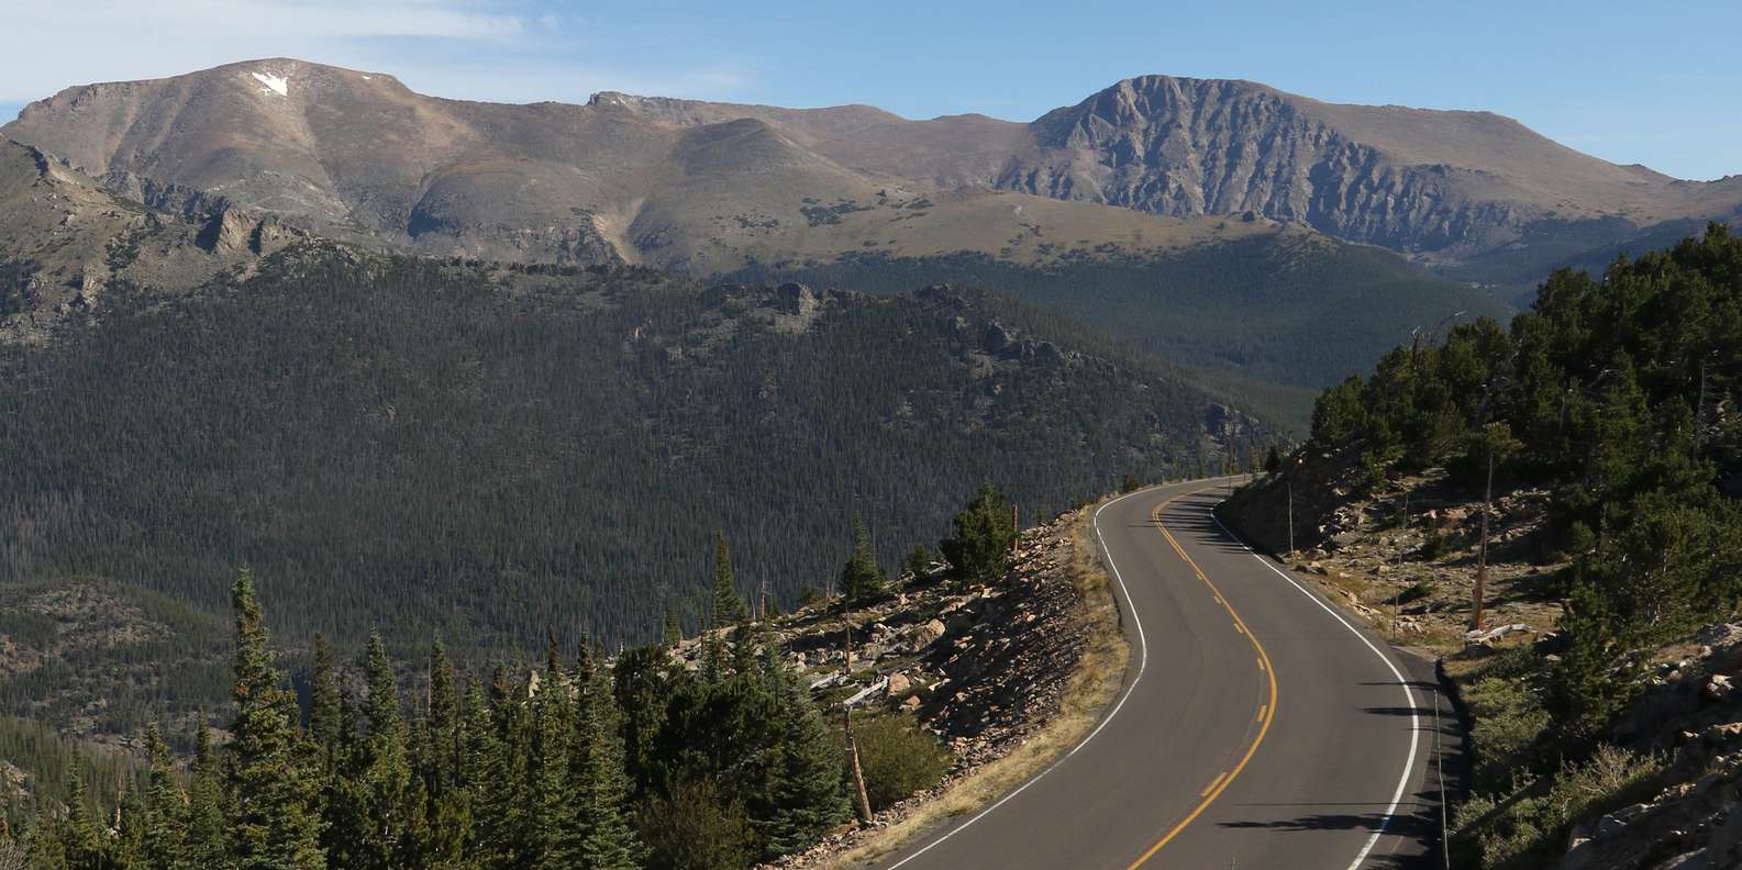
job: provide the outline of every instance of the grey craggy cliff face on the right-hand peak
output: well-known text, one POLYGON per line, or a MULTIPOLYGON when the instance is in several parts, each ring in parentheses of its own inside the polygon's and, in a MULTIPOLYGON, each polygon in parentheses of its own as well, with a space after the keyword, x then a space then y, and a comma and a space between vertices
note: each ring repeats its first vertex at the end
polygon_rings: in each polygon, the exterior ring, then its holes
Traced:
POLYGON ((1486 247, 1538 209, 1472 200, 1479 172, 1404 165, 1251 82, 1143 77, 1033 124, 995 184, 1157 214, 1256 212, 1401 251, 1486 247))

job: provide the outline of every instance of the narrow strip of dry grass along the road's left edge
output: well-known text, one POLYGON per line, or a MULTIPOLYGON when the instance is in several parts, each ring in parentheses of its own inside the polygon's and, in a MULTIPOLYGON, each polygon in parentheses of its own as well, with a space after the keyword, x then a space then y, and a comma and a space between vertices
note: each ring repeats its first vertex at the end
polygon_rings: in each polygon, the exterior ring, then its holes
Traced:
MULTIPOLYGON (((1092 506, 1090 506, 1092 508, 1092 506)), ((888 854, 922 832, 956 816, 979 813, 998 797, 1045 771, 1101 719, 1125 680, 1129 649, 1120 630, 1118 602, 1111 579, 1101 564, 1089 527, 1090 508, 1077 512, 1071 527, 1071 585, 1082 595, 1080 618, 1090 626, 1082 659, 1059 698, 1059 710, 1009 755, 981 766, 951 783, 937 799, 920 806, 901 821, 878 830, 827 861, 822 868, 847 868, 888 854)))

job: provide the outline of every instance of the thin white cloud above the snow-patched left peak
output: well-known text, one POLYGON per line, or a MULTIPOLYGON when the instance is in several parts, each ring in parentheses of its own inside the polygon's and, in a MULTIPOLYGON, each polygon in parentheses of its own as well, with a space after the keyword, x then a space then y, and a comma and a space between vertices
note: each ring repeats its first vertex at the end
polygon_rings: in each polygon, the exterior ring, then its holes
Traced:
POLYGON ((726 97, 747 82, 719 66, 646 75, 585 45, 575 14, 507 0, 63 0, 0 28, 0 104, 89 82, 159 78, 254 57, 394 73, 446 97, 528 103, 592 90, 726 97), (71 47, 77 45, 77 50, 71 47))

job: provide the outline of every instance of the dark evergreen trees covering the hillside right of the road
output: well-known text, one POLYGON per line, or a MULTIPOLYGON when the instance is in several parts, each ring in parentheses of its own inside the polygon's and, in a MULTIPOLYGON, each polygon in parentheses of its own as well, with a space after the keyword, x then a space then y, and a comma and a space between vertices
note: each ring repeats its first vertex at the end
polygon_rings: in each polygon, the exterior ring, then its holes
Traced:
POLYGON ((1510 828, 1531 816, 1517 809, 1533 800, 1529 783, 1604 752, 1651 651, 1735 619, 1739 400, 1742 238, 1721 224, 1601 277, 1557 271, 1510 329, 1458 325, 1444 345, 1397 348, 1373 376, 1319 398, 1312 449, 1359 451, 1374 485, 1437 465, 1481 492, 1493 463, 1498 487, 1552 491, 1542 559, 1570 566, 1549 588, 1566 609, 1552 640, 1507 659, 1509 675, 1540 687, 1545 724, 1510 738, 1531 764, 1514 774, 1517 793, 1467 813, 1493 814, 1467 826, 1495 851, 1563 849, 1564 837, 1510 828))

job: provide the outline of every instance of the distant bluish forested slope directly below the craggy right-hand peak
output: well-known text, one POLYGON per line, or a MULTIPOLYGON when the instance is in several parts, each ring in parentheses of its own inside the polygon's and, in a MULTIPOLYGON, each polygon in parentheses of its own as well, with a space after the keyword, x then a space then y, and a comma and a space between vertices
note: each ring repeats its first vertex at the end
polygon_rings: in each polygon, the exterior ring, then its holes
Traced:
POLYGON ((927 282, 995 287, 1181 365, 1313 390, 1366 371, 1413 329, 1432 329, 1453 311, 1510 311, 1486 289, 1435 278, 1387 251, 1272 237, 1153 258, 1066 256, 1047 266, 984 254, 868 252, 824 264, 760 264, 735 278, 868 292, 927 282))

